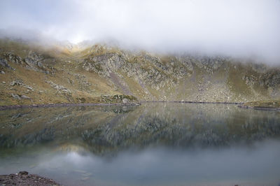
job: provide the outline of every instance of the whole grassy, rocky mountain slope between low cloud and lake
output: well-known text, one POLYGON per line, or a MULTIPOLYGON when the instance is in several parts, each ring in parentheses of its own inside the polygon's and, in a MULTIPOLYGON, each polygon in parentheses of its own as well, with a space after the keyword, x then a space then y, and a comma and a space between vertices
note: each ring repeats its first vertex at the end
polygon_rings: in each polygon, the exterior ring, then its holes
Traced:
POLYGON ((0 105, 280 99, 280 68, 230 57, 0 40, 0 105))

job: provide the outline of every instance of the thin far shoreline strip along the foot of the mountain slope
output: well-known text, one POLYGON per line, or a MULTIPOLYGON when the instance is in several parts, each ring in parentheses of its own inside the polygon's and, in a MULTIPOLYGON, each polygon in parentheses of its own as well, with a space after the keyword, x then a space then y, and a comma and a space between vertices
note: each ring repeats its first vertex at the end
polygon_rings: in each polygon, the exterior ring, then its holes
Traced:
POLYGON ((139 106, 141 103, 200 103, 200 104, 235 104, 238 102, 214 102, 214 101, 140 101, 139 103, 49 103, 49 104, 32 104, 32 105, 10 105, 0 106, 0 110, 9 110, 17 108, 49 108, 64 106, 139 106))

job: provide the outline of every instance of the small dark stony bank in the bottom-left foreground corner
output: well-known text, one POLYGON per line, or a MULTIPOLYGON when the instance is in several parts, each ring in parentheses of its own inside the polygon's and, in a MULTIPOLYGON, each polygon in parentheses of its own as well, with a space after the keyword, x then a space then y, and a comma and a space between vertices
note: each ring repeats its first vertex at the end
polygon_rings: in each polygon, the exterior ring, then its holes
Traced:
POLYGON ((9 175, 0 175, 1 185, 60 185, 54 180, 43 178, 36 174, 29 174, 27 171, 12 173, 9 175))

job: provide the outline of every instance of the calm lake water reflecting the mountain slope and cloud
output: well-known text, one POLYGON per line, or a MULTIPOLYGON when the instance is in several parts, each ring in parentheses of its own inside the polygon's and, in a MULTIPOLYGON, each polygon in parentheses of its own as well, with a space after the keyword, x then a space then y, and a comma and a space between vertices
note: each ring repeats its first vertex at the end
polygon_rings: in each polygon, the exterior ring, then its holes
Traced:
POLYGON ((0 174, 63 185, 279 185, 280 112, 236 105, 0 111, 0 174))

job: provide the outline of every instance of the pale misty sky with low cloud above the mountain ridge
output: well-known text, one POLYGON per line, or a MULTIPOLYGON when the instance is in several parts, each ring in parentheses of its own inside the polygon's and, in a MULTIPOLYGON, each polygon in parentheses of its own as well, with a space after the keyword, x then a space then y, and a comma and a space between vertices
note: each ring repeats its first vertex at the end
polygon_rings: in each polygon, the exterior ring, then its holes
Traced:
POLYGON ((0 29, 280 64, 279 0, 1 0, 0 29))

